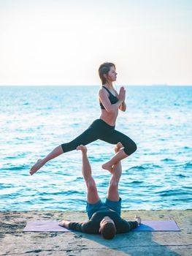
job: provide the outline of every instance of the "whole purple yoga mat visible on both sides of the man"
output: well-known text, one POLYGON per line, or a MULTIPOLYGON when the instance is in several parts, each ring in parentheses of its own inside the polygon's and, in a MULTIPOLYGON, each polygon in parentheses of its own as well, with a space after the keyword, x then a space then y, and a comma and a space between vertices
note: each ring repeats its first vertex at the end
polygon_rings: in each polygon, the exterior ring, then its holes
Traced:
MULTIPOLYGON (((27 222, 23 231, 69 232, 70 230, 59 226, 57 221, 42 220, 27 222)), ((133 231, 180 231, 180 227, 174 220, 142 220, 142 224, 133 231)))

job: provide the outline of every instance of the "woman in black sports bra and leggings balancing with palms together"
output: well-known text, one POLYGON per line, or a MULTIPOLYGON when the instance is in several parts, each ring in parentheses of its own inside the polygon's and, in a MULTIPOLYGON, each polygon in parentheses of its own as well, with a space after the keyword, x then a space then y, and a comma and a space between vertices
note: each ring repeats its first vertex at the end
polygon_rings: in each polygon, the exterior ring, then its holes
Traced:
POLYGON ((112 172, 112 166, 121 159, 128 157, 137 150, 137 146, 131 138, 123 135, 123 133, 115 130, 115 121, 118 117, 118 110, 126 111, 126 91, 123 87, 120 88, 119 94, 115 91, 112 83, 117 78, 115 64, 105 62, 99 67, 99 77, 101 78, 102 88, 99 90, 99 103, 101 106, 101 116, 93 121, 90 127, 85 130, 80 136, 69 143, 61 144, 53 149, 50 154, 44 159, 39 159, 35 165, 31 167, 30 174, 37 172, 46 162, 58 157, 59 155, 72 151, 80 145, 87 145, 94 140, 104 140, 107 143, 117 144, 122 143, 123 148, 115 154, 109 162, 106 162, 102 167, 112 172))

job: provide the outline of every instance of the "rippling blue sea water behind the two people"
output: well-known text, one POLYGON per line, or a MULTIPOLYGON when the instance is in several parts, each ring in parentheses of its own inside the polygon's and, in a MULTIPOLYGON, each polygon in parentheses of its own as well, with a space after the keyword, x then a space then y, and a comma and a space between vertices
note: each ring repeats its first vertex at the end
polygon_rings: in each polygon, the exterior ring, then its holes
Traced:
MULTIPOLYGON (((119 89, 119 87, 117 88, 119 89)), ((31 165, 99 118, 99 86, 0 87, 0 210, 85 210, 81 153, 71 151, 29 175, 31 165)), ((137 143, 123 159, 123 209, 191 208, 192 87, 126 86, 116 129, 137 143)), ((101 200, 114 146, 88 145, 101 200)))

